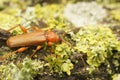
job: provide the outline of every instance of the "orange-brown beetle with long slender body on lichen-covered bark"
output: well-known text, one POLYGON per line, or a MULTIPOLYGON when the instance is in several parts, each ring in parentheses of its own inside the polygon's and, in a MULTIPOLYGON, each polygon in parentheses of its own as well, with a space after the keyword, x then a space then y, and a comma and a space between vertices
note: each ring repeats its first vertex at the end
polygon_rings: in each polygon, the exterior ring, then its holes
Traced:
MULTIPOLYGON (((32 27, 34 29, 34 32, 28 32, 27 29, 25 29, 23 26, 19 25, 21 30, 24 32, 24 34, 11 36, 7 39, 6 44, 10 48, 14 47, 21 47, 18 50, 14 51, 16 52, 23 52, 28 49, 29 46, 36 45, 36 50, 34 53, 30 56, 32 58, 35 53, 41 49, 41 44, 48 43, 48 46, 51 46, 52 43, 60 42, 59 35, 52 31, 52 30, 41 30, 38 27, 32 27)), ((9 29, 8 31, 14 29, 15 27, 9 29)), ((13 53, 12 53, 13 54, 13 53)), ((2 58, 5 59, 9 57, 12 54, 4 55, 2 58)))

